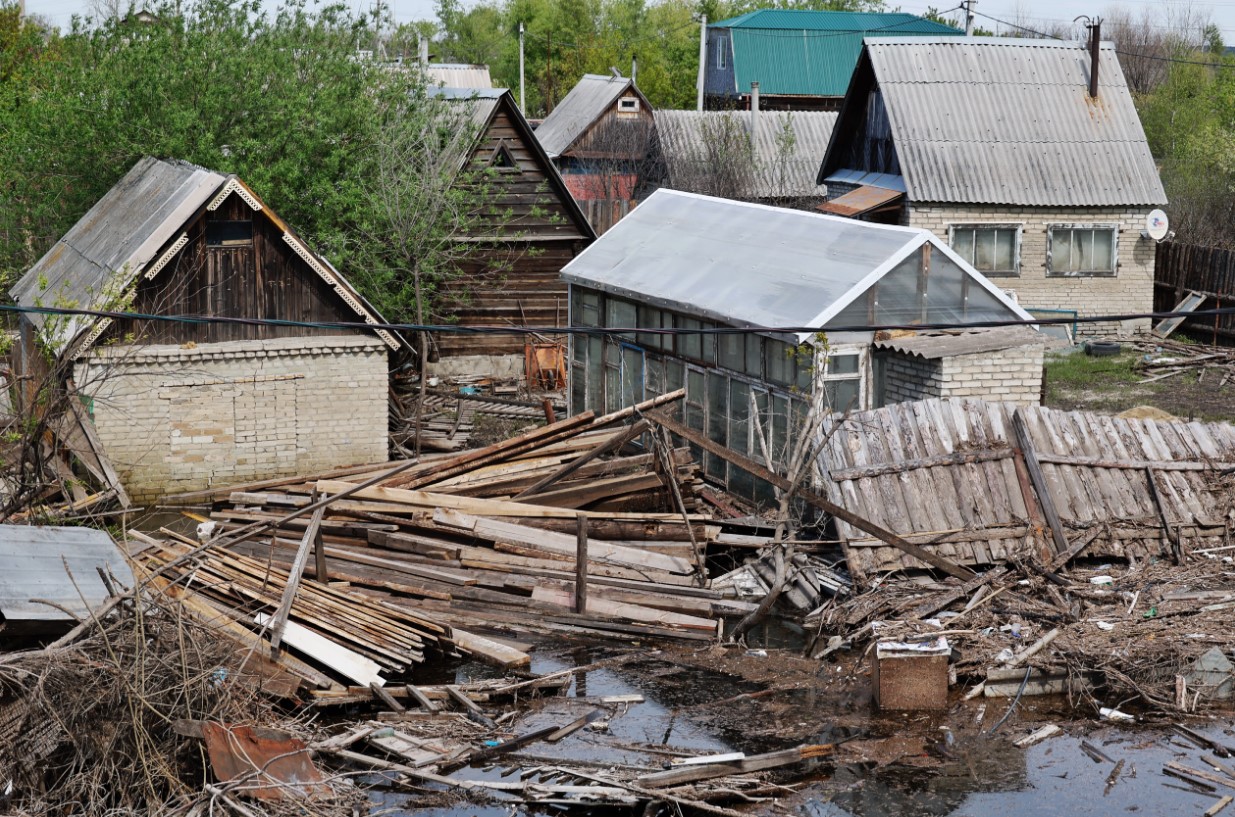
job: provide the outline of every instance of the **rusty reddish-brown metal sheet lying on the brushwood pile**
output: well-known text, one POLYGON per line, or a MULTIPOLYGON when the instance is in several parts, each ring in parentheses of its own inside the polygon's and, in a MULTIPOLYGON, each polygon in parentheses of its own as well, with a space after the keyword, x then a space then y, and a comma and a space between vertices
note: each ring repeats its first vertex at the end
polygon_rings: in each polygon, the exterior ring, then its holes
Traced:
POLYGON ((219 781, 241 782, 238 791, 246 795, 258 800, 299 800, 332 794, 304 740, 268 729, 214 722, 201 724, 201 737, 219 781))

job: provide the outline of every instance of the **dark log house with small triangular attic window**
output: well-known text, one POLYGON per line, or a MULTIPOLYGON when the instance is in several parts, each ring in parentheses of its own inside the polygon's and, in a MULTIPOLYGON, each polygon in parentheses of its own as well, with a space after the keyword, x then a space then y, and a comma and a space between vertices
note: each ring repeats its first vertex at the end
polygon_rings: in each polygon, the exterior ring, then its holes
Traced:
MULTIPOLYGON (((564 326, 567 291, 558 273, 592 243, 595 232, 509 90, 442 88, 433 93, 472 107, 477 137, 464 167, 494 170, 485 184, 500 214, 499 221, 478 226, 466 238, 472 249, 453 283, 457 322, 564 326)), ((527 341, 521 334, 442 334, 431 371, 521 374, 527 341)))

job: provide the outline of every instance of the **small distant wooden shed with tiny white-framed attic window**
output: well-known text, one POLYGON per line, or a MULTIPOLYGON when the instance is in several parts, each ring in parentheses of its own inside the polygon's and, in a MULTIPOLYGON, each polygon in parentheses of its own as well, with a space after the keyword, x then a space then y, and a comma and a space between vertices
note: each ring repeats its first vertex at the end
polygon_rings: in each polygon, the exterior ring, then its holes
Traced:
POLYGON ((652 105, 627 77, 584 74, 536 128, 598 233, 630 211, 648 156, 652 105))

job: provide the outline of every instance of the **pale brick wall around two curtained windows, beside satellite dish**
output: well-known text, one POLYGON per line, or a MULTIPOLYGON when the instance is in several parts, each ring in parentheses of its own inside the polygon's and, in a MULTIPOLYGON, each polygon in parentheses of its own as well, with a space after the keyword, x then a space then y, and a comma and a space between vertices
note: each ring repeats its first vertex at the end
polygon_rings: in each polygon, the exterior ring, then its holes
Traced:
MULTIPOLYGON (((1141 238, 1150 207, 1013 207, 995 205, 914 205, 904 209, 910 227, 930 230, 945 243, 951 225, 1019 223, 1020 275, 990 276, 1000 289, 1015 290, 1025 309, 1076 310, 1082 316, 1150 312, 1153 309, 1155 244, 1141 238), (1118 225, 1119 263, 1114 278, 1047 278, 1049 225, 1118 225)), ((1149 331, 1150 321, 1129 326, 1081 323, 1078 334, 1121 334, 1149 331)))

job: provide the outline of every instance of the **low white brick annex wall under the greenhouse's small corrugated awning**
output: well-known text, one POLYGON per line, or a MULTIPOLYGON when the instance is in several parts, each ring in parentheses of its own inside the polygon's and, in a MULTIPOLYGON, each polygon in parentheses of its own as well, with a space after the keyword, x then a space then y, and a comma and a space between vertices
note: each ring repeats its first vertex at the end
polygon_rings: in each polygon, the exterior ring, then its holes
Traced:
POLYGON ((982 397, 1036 406, 1042 395, 1042 344, 927 360, 888 352, 883 402, 925 397, 982 397))

